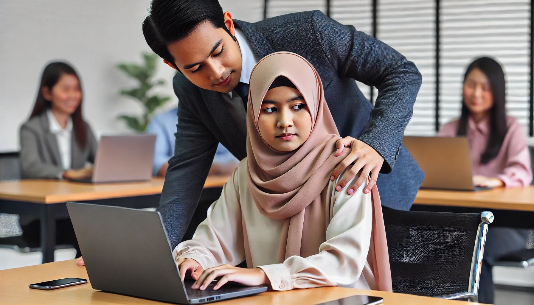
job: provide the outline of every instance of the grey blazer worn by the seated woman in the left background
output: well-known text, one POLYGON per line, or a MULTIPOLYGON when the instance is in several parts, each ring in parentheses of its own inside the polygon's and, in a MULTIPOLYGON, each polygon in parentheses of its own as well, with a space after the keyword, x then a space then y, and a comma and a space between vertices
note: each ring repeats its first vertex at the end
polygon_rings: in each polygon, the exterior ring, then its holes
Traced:
MULTIPOLYGON (((97 140, 89 124, 87 146, 80 147, 72 134, 71 166, 82 168, 86 161, 95 162, 97 140)), ((20 162, 22 178, 58 178, 63 171, 56 135, 50 132, 46 112, 34 116, 20 127, 20 162)))

